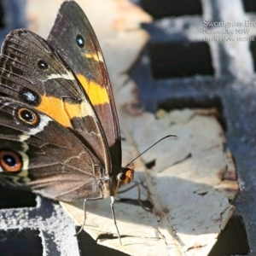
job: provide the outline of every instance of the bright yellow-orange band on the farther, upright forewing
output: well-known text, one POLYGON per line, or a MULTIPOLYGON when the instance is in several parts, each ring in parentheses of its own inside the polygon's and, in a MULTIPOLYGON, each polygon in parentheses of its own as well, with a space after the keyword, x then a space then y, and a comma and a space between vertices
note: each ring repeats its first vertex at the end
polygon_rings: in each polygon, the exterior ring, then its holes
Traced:
POLYGON ((108 91, 105 87, 102 87, 101 84, 97 84, 92 80, 89 81, 81 74, 77 74, 77 77, 93 106, 109 103, 108 91))

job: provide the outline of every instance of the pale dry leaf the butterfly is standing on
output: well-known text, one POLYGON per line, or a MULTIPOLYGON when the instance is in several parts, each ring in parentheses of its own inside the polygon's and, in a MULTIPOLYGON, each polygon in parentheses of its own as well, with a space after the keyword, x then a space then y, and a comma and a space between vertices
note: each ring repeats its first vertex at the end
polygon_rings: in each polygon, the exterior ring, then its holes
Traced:
MULTIPOLYGON (((235 210, 229 199, 238 191, 218 120, 186 109, 160 119, 152 113, 139 117, 122 113, 120 122, 125 135, 124 165, 161 137, 176 134, 177 138, 167 138, 134 164, 135 181, 143 184, 143 198, 150 197, 153 212, 116 202, 123 245, 118 239, 99 243, 131 255, 207 255, 235 210), (154 166, 146 171, 144 164, 149 163, 154 166)), ((137 199, 137 189, 117 198, 137 199)), ((116 234, 109 203, 88 202, 84 230, 94 239, 116 234)), ((62 205, 78 224, 83 223, 82 203, 62 205)))

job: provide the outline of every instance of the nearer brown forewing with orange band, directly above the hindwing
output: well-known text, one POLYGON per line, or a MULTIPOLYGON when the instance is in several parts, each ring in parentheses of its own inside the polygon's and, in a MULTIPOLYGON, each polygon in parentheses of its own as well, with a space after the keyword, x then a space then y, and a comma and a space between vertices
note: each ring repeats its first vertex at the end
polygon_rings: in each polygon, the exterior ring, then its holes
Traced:
POLYGON ((70 67, 43 38, 24 29, 11 32, 3 42, 0 74, 4 96, 30 104, 83 138, 109 175, 108 143, 96 112, 70 67))

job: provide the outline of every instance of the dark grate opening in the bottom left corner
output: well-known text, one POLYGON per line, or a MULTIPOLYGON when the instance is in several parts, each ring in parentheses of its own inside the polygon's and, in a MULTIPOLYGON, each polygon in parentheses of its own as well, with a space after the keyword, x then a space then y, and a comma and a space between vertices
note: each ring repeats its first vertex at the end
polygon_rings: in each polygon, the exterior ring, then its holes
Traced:
POLYGON ((0 230, 2 256, 43 255, 42 240, 38 230, 0 230))

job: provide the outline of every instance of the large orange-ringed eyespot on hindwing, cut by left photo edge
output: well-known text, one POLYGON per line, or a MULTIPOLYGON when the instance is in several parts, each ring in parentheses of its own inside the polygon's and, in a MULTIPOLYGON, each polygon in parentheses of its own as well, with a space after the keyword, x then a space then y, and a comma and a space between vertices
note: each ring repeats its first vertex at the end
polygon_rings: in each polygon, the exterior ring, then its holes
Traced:
POLYGON ((13 151, 0 151, 0 166, 6 172, 19 172, 22 167, 20 154, 13 151))

